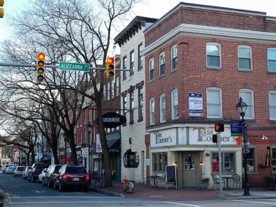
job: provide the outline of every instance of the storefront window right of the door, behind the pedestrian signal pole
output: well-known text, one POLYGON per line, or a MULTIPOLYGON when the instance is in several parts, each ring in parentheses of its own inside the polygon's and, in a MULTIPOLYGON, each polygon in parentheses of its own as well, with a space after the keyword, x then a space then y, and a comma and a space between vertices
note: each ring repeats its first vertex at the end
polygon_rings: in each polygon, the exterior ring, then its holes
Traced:
MULTIPOLYGON (((221 152, 221 172, 228 174, 235 172, 235 153, 234 152, 221 152)), ((219 153, 212 153, 212 172, 219 172, 219 153)))

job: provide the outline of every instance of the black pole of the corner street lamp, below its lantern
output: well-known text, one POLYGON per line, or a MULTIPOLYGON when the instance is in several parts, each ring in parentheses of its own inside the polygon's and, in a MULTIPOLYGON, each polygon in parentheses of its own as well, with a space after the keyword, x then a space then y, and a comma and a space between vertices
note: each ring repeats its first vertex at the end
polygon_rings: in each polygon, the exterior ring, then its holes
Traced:
POLYGON ((244 113, 242 114, 242 131, 244 134, 244 195, 248 196, 249 193, 249 183, 248 183, 248 175, 247 175, 247 127, 244 123, 244 113))

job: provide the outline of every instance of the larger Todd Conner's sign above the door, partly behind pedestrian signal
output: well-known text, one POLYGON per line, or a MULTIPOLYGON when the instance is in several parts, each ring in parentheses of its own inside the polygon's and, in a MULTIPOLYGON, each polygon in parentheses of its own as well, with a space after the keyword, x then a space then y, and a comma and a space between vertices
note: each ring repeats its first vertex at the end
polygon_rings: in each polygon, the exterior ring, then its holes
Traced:
MULTIPOLYGON (((212 136, 215 135, 215 128, 195 127, 189 128, 190 144, 213 144, 212 136)), ((221 132, 221 144, 236 144, 236 138, 232 137, 230 128, 225 128, 224 132, 221 132)))

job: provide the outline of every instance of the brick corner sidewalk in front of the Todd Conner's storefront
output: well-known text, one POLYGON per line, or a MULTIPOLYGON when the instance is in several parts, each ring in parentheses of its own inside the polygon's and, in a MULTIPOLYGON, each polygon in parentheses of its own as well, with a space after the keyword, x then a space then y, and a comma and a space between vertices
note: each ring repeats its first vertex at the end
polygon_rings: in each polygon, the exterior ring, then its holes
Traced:
MULTIPOLYGON (((149 188, 148 186, 135 184, 134 193, 127 194, 122 190, 122 184, 113 183, 113 187, 90 188, 90 190, 105 195, 126 197, 132 199, 158 199, 168 201, 202 201, 219 199, 219 190, 177 189, 166 190, 164 188, 149 188)), ((224 190, 224 199, 248 199, 248 198, 276 198, 275 191, 262 189, 250 189, 251 196, 243 196, 244 190, 224 190)))

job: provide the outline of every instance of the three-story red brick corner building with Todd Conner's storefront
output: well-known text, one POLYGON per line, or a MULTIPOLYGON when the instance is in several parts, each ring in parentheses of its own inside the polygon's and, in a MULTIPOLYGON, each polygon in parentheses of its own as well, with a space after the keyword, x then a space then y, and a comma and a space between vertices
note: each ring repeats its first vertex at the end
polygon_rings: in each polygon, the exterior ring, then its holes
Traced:
POLYGON ((239 97, 248 104, 250 187, 264 186, 271 146, 276 166, 276 17, 265 12, 179 3, 145 32, 147 175, 177 169, 179 188, 218 175, 212 142, 221 133, 222 173, 243 175, 242 148, 230 135, 239 97), (263 135, 268 139, 262 139, 263 135))

